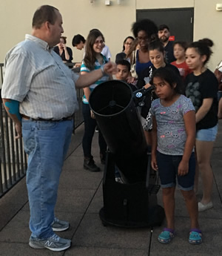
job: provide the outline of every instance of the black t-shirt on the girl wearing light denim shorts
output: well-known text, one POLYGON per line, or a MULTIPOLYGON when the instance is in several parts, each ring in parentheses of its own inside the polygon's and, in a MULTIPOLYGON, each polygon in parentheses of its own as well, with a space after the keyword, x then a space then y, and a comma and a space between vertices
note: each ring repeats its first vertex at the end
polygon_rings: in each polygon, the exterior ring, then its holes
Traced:
POLYGON ((203 99, 213 98, 212 106, 206 116, 197 123, 197 130, 212 128, 218 123, 218 80, 209 69, 195 76, 186 76, 186 97, 192 100, 195 111, 201 107, 203 99))

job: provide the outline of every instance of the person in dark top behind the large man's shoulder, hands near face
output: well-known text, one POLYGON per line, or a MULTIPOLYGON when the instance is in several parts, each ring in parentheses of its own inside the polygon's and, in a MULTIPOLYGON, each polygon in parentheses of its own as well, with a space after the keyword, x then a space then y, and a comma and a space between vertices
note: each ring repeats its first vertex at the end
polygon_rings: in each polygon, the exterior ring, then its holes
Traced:
POLYGON ((72 62, 73 60, 73 51, 70 47, 66 46, 67 39, 65 36, 60 37, 60 43, 54 47, 55 53, 61 56, 61 59, 64 63, 72 62))

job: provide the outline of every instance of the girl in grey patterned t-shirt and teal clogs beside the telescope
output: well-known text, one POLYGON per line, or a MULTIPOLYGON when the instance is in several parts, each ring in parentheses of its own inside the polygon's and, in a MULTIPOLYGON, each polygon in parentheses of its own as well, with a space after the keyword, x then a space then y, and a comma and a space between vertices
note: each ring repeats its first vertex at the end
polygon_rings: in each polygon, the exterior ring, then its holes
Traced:
POLYGON ((201 243, 198 224, 198 204, 194 192, 195 180, 195 108, 192 101, 181 94, 181 82, 169 68, 153 73, 155 86, 152 112, 152 168, 159 172, 163 191, 166 228, 158 236, 161 243, 169 243, 175 235, 175 184, 184 196, 191 229, 189 243, 201 243))

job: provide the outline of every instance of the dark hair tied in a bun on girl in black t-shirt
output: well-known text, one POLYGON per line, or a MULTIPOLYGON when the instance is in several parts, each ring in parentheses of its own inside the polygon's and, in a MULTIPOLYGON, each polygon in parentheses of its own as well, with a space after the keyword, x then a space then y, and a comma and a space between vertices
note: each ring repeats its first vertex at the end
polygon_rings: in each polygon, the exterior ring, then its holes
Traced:
POLYGON ((211 39, 201 39, 197 42, 192 42, 188 48, 195 48, 195 50, 201 55, 206 55, 206 60, 203 62, 205 65, 206 62, 209 61, 209 57, 212 55, 212 50, 210 47, 212 47, 214 43, 211 39))

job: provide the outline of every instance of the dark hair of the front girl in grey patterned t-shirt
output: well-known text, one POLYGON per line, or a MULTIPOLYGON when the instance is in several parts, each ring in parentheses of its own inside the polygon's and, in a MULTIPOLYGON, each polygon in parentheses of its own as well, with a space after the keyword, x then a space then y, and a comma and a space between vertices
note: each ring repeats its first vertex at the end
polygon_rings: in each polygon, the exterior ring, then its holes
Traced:
POLYGON ((184 93, 184 87, 181 77, 175 73, 172 68, 164 67, 164 68, 158 68, 155 70, 152 74, 152 79, 150 81, 150 85, 153 85, 153 79, 154 77, 158 77, 160 79, 163 79, 166 81, 171 88, 175 90, 176 93, 183 94, 184 93), (174 88, 174 84, 176 84, 176 87, 174 88))

